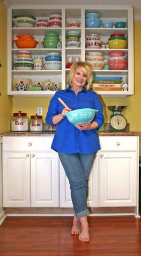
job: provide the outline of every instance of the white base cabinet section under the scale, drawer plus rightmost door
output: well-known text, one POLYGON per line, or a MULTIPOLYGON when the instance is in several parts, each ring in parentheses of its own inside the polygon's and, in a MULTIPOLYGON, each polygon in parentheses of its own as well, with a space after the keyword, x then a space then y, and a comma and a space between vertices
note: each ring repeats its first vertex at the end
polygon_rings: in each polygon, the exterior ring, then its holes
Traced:
POLYGON ((139 138, 101 137, 99 151, 99 206, 138 205, 139 138))

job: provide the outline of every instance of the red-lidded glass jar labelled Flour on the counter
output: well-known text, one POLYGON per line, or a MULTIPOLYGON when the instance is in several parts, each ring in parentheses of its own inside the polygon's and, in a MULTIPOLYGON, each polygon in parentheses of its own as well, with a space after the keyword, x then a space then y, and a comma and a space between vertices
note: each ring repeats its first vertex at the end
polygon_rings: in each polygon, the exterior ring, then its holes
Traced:
POLYGON ((11 132, 27 132, 29 130, 29 118, 26 113, 19 111, 11 117, 11 132))

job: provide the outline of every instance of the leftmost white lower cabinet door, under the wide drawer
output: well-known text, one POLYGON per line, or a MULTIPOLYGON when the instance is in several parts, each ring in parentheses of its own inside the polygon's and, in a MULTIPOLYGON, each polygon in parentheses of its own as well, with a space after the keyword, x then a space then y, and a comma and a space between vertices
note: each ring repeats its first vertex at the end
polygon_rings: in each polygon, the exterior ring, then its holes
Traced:
POLYGON ((3 153, 3 206, 30 207, 30 155, 3 153))

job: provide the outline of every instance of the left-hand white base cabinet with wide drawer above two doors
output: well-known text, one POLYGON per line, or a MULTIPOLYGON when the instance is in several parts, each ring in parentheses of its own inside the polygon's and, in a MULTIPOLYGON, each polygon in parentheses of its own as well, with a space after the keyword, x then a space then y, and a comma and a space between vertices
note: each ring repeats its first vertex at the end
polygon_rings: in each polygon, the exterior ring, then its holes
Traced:
POLYGON ((59 159, 51 139, 2 140, 4 207, 59 207, 59 159))

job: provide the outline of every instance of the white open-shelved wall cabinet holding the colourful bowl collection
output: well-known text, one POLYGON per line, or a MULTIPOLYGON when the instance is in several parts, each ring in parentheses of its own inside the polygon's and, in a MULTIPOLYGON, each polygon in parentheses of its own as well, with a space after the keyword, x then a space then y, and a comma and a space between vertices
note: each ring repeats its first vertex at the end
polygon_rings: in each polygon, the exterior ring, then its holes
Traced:
POLYGON ((69 69, 66 69, 66 56, 75 55, 80 56, 82 61, 85 61, 85 55, 91 51, 102 52, 105 58, 108 58, 110 50, 124 50, 125 55, 128 56, 127 70, 93 70, 94 76, 121 76, 123 82, 127 82, 128 91, 97 91, 98 94, 127 96, 134 93, 133 90, 133 8, 131 6, 112 6, 112 5, 90 5, 81 6, 74 5, 16 5, 8 9, 8 95, 13 96, 53 96, 55 91, 13 91, 11 86, 12 78, 30 78, 33 81, 45 81, 50 79, 53 82, 62 82, 62 89, 66 88, 66 76, 69 69), (100 13, 102 21, 111 20, 113 22, 125 21, 127 25, 125 28, 85 28, 85 14, 91 12, 100 13), (16 28, 12 24, 12 18, 18 14, 32 14, 36 18, 49 17, 50 14, 62 14, 62 28, 16 28), (80 28, 67 28, 66 22, 68 20, 77 19, 81 22, 80 28), (81 34, 81 46, 77 48, 66 47, 66 31, 77 30, 81 34), (34 55, 45 56, 48 52, 60 52, 62 54, 62 70, 14 70, 13 62, 16 58, 19 49, 14 43, 11 43, 13 38, 18 34, 33 35, 36 40, 42 42, 44 35, 48 31, 56 31, 62 41, 61 49, 28 49, 34 55), (127 49, 85 49, 85 36, 88 34, 99 34, 101 40, 106 43, 110 34, 121 32, 128 38, 127 49))

